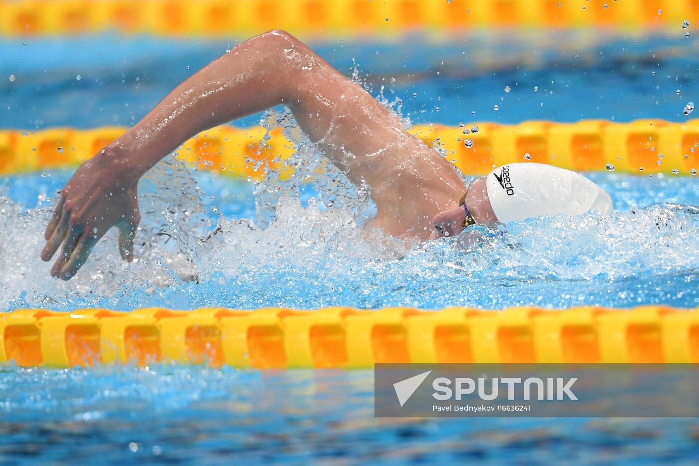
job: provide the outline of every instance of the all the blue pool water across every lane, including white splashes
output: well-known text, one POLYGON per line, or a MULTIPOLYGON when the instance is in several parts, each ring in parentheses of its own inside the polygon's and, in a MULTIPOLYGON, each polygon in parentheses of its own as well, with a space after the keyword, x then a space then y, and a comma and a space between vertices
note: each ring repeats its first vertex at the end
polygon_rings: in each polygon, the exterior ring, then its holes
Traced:
MULTIPOLYGON (((684 103, 699 95, 693 42, 582 39, 542 47, 536 36, 449 45, 415 38, 409 48, 345 42, 319 51, 347 74, 356 58, 373 92, 385 85, 412 122, 686 119, 684 103)), ((0 126, 128 125, 225 48, 109 36, 1 41, 0 126), (10 74, 14 82, 3 78, 10 74)), ((312 148, 301 152, 308 158, 312 148)), ((298 177, 312 168, 300 166, 298 177)), ((470 228, 405 250, 363 238, 372 206, 338 174, 339 187, 331 175, 311 184, 277 184, 274 174, 263 184, 234 182, 170 158, 139 190, 138 261, 122 263, 110 233, 62 282, 38 252, 52 198, 70 175, 1 181, 0 311, 699 305, 699 217, 668 205, 699 205, 697 177, 592 173, 612 195, 610 216, 470 228)), ((8 366, 0 368, 0 416, 0 462, 8 463, 690 464, 699 455, 691 419, 377 419, 369 371, 8 366)))

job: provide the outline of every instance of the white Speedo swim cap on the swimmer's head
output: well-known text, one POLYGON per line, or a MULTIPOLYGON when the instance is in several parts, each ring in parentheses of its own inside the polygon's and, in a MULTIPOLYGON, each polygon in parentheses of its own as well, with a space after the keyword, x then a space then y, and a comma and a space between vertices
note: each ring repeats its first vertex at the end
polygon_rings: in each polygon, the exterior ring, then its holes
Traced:
POLYGON ((614 210, 607 191, 574 171, 544 163, 498 167, 487 176, 486 187, 493 212, 503 224, 540 215, 614 210))

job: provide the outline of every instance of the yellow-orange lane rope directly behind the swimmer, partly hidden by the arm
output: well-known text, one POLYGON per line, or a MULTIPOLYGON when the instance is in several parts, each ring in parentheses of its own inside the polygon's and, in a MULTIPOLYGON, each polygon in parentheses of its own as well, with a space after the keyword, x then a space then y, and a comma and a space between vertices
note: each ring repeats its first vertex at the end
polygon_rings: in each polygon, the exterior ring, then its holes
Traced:
MULTIPOLYGON (((96 129, 0 130, 0 175, 74 168, 124 133, 119 126, 96 129)), ((461 126, 419 125, 415 134, 440 148, 467 175, 484 175, 494 166, 533 161, 578 171, 696 175, 699 170, 699 119, 684 124, 663 120, 614 123, 531 121, 461 126), (476 131, 473 131, 473 130, 476 131)), ((266 135, 261 126, 218 126, 182 145, 178 157, 199 168, 259 179, 268 168, 289 173, 284 160, 294 144, 280 129, 266 135), (268 136, 268 137, 266 137, 268 136)))

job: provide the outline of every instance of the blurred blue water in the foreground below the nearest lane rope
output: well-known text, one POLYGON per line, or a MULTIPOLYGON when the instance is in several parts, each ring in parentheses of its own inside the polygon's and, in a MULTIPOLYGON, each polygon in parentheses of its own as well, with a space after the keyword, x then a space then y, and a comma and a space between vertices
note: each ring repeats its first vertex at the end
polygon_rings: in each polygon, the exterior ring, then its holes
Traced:
POLYGON ((373 417, 373 372, 0 372, 0 460, 22 463, 693 464, 692 419, 373 417))

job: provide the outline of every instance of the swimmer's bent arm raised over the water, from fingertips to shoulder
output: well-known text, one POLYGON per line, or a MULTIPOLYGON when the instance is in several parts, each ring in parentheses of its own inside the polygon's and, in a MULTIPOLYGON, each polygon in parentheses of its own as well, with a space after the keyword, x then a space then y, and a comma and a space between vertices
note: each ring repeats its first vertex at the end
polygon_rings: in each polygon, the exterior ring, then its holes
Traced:
POLYGON ((120 229, 122 258, 131 261, 140 221, 140 177, 196 133, 280 104, 294 112, 301 129, 355 182, 371 185, 385 176, 366 162, 369 154, 406 141, 421 144, 403 131, 398 117, 303 43, 284 31, 270 31, 182 82, 78 168, 45 231, 44 261, 63 244, 51 275, 73 277, 113 226, 120 229))

